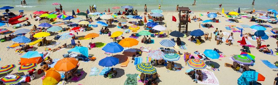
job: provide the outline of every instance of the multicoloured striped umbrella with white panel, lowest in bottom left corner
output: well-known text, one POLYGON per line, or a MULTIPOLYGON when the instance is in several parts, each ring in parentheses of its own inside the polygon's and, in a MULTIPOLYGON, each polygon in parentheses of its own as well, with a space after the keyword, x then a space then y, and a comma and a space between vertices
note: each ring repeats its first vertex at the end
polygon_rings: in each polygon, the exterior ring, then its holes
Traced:
POLYGON ((2 79, 0 79, 4 84, 9 85, 13 83, 18 83, 22 77, 17 74, 12 74, 12 75, 6 75, 2 79))

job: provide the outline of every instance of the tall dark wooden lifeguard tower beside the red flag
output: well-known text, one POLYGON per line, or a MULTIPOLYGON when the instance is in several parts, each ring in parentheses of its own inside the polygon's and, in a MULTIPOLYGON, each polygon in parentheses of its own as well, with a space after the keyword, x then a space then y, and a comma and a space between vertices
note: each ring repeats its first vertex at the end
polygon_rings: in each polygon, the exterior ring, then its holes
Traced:
POLYGON ((186 33, 188 30, 188 7, 179 7, 179 32, 186 33), (186 14, 186 15, 184 15, 186 14))

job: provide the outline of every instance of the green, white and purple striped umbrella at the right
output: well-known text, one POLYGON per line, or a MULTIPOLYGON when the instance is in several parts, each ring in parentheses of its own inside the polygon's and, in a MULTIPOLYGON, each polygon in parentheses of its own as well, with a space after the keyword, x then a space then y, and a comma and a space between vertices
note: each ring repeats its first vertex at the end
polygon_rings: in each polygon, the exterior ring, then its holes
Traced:
POLYGON ((244 55, 234 55, 232 59, 237 63, 241 63, 245 65, 251 65, 253 63, 251 59, 249 59, 247 56, 244 55))

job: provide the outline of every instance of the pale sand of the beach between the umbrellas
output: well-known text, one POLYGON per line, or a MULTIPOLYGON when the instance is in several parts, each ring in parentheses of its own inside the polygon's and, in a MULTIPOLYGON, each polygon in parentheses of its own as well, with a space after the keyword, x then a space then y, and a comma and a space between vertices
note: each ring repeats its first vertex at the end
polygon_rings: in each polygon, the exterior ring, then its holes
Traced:
MULTIPOLYGON (((225 10, 225 12, 230 12, 230 11, 231 10, 229 10, 229 11, 225 10)), ((18 14, 17 11, 11 11, 11 12, 14 12, 15 14, 18 14)), ((205 11, 205 12, 194 11, 193 14, 190 14, 190 18, 192 18, 193 16, 196 16, 197 18, 200 17, 203 20, 211 19, 211 18, 208 18, 207 15, 204 15, 204 16, 199 15, 199 14, 206 14, 207 12, 210 12, 210 11, 205 11)), ((221 12, 221 11, 219 11, 219 12, 221 12)), ((243 12, 243 10, 242 10, 242 12, 243 12)), ((33 11, 32 12, 31 11, 30 12, 24 12, 24 14, 26 14, 25 18, 28 17, 29 20, 27 20, 27 21, 31 22, 32 25, 37 26, 37 25, 39 25, 39 21, 35 21, 35 18, 31 18, 30 14, 32 14, 32 13, 33 13, 33 11)), ((66 14, 71 15, 72 13, 71 12, 66 12, 66 14)), ((167 26, 167 29, 162 31, 162 32, 167 34, 168 32, 171 33, 171 31, 178 30, 178 27, 177 27, 178 20, 179 20, 178 19, 178 12, 167 11, 167 12, 163 12, 162 14, 164 15, 165 20, 163 20, 163 22, 160 23, 160 25, 165 26, 165 24, 166 24, 166 26, 167 26), (171 16, 175 16, 177 18, 177 22, 173 22, 171 16)), ((144 14, 143 14, 143 12, 138 12, 138 15, 144 15, 144 14)), ((249 14, 249 15, 252 16, 252 14, 249 14)), ((120 16, 122 16, 122 15, 119 15, 118 18, 120 18, 120 16)), ((234 26, 242 28, 240 25, 252 26, 252 25, 258 24, 258 23, 255 23, 255 22, 250 22, 249 18, 241 18, 241 19, 238 19, 238 20, 240 20, 242 22, 231 23, 231 22, 225 21, 229 18, 225 18, 225 17, 222 17, 222 16, 223 15, 218 15, 218 17, 217 17, 217 19, 219 19, 220 23, 209 22, 210 24, 212 24, 214 26, 214 28, 210 28, 210 29, 204 28, 202 26, 200 26, 200 28, 199 28, 199 24, 200 23, 202 24, 202 22, 201 21, 194 22, 193 20, 191 20, 191 23, 189 23, 189 25, 188 25, 188 31, 201 29, 201 30, 204 31, 204 33, 206 33, 206 32, 209 33, 209 36, 210 36, 210 34, 211 33, 213 34, 213 31, 216 28, 218 28, 218 30, 222 30, 223 32, 231 33, 232 32, 231 30, 226 30, 225 29, 225 26, 227 26, 227 25, 234 25, 234 26)), ((77 17, 82 18, 82 16, 77 16, 77 17)), ((92 18, 94 22, 92 22, 90 24, 95 25, 96 24, 95 19, 97 17, 92 18)), ((82 19, 86 19, 86 18, 83 16, 82 19)), ((127 20, 128 21, 138 21, 139 19, 138 20, 136 20, 136 19, 127 19, 127 20)), ((144 20, 144 18, 142 20, 144 20)), ((62 19, 57 19, 57 21, 64 22, 64 21, 68 21, 68 20, 62 21, 62 19)), ((78 23, 79 20, 70 20, 70 21, 78 23)), ((21 24, 23 24, 23 23, 26 23, 26 22, 22 22, 21 24)), ((112 24, 113 24, 112 27, 108 27, 109 30, 112 33, 115 32, 115 31, 124 32, 124 30, 118 29, 116 27, 118 25, 118 23, 112 23, 112 24)), ((263 24, 270 25, 270 26, 272 26, 272 28, 278 27, 277 24, 271 24, 271 23, 263 23, 263 24)), ((127 23, 126 25, 131 26, 132 24, 127 23)), ((15 25, 12 25, 12 26, 15 26, 15 25)), ((5 29, 11 30, 11 31, 15 31, 15 30, 18 30, 18 29, 21 29, 21 28, 26 28, 26 29, 31 30, 32 27, 33 27, 33 26, 25 26, 25 27, 20 27, 20 28, 17 28, 17 29, 13 29, 12 26, 11 27, 1 26, 0 28, 1 29, 5 28, 5 29)), ((63 28, 67 27, 66 25, 60 25, 60 26, 62 26, 63 28)), ((70 27, 70 28, 72 28, 72 27, 70 27)), ((265 30, 265 32, 270 33, 270 34, 267 34, 268 36, 275 35, 270 31, 272 28, 268 27, 267 30, 265 30)), ((79 37, 84 37, 86 34, 89 34, 89 33, 98 33, 99 34, 100 27, 94 27, 93 29, 94 30, 90 30, 90 31, 86 31, 86 32, 78 32, 78 36, 79 37)), ((244 29, 243 33, 251 33, 251 34, 255 33, 251 30, 251 28, 243 28, 243 29, 244 29)), ((142 30, 144 30, 144 27, 140 26, 140 29, 137 30, 137 33, 142 31, 142 30)), ((66 32, 69 32, 69 31, 58 32, 58 35, 66 33, 66 32)), ((132 34, 132 33, 133 32, 130 32, 128 34, 124 33, 123 37, 128 38, 130 36, 130 34, 132 34)), ((196 54, 194 54, 195 51, 200 51, 200 53, 203 53, 205 49, 214 49, 214 48, 219 49, 219 51, 223 52, 223 54, 226 57, 211 60, 211 61, 213 61, 215 63, 218 63, 220 65, 219 71, 217 71, 217 70, 216 71, 208 70, 208 71, 211 71, 211 72, 214 73, 214 75, 218 79, 219 85, 236 85, 237 80, 242 75, 242 73, 238 73, 237 71, 234 71, 232 68, 224 66, 224 63, 233 64, 233 61, 230 60, 229 58, 231 58, 233 55, 239 55, 241 53, 242 46, 240 46, 239 43, 237 42, 237 41, 241 40, 240 32, 233 32, 233 33, 234 33, 235 42, 233 42, 233 44, 231 46, 227 45, 225 42, 220 44, 220 45, 216 45, 216 41, 214 40, 215 36, 213 34, 211 41, 206 40, 204 43, 201 43, 200 45, 197 45, 194 42, 188 41, 188 39, 191 36, 188 36, 186 38, 181 38, 181 41, 186 43, 186 48, 187 48, 186 50, 179 49, 179 48, 174 48, 174 47, 169 47, 169 48, 174 49, 175 51, 180 51, 181 53, 189 52, 189 53, 193 54, 194 56, 197 56, 196 54)), ((2 38, 4 37, 4 35, 1 35, 1 36, 2 36, 2 38)), ((8 36, 8 35, 6 35, 6 36, 8 36)), ((26 34, 25 36, 27 38, 29 38, 30 35, 26 34)), ((229 35, 224 35, 224 38, 228 38, 228 36, 229 35)), ((53 38, 54 38, 54 36, 46 37, 47 40, 51 40, 53 38)), ((176 37, 173 37, 173 36, 169 35, 166 38, 152 38, 152 39, 154 39, 154 44, 147 44, 146 45, 144 43, 141 43, 142 38, 143 38, 142 36, 137 38, 137 40, 139 41, 138 45, 133 46, 133 47, 129 47, 129 48, 139 49, 142 46, 147 46, 147 47, 151 47, 152 50, 157 50, 159 47, 164 47, 164 46, 159 44, 159 42, 161 40, 171 39, 171 38, 175 38, 175 40, 176 40, 176 37)), ((202 36, 202 38, 204 39, 204 36, 202 36)), ((55 46, 53 48, 59 47, 66 42, 67 42, 67 44, 70 44, 70 39, 68 39, 67 41, 59 41, 59 40, 54 40, 53 39, 53 41, 61 42, 61 44, 58 44, 57 46, 55 46)), ((77 41, 80 41, 80 43, 82 44, 83 47, 87 47, 88 43, 91 42, 91 39, 89 39, 89 40, 75 40, 75 42, 77 42, 77 41)), ((257 46, 256 41, 253 41, 253 40, 247 40, 247 41, 251 42, 251 45, 257 46)), ((268 47, 269 49, 272 49, 273 51, 276 51, 276 48, 277 48, 276 43, 275 43, 276 41, 277 40, 275 38, 270 38, 269 37, 269 39, 262 42, 262 45, 267 45, 268 44, 268 45, 270 45, 270 47, 268 47)), ((93 39, 92 42, 93 43, 94 42, 109 43, 109 42, 113 42, 113 40, 110 39, 108 34, 101 34, 101 35, 99 35, 99 37, 93 39)), ((5 65, 10 65, 10 64, 15 64, 17 66, 17 68, 20 67, 20 65, 18 65, 17 63, 19 62, 18 60, 20 60, 20 57, 22 55, 24 55, 24 53, 21 54, 21 55, 19 55, 19 53, 16 53, 15 49, 17 49, 17 48, 7 49, 6 47, 11 46, 12 43, 15 43, 15 42, 6 41, 6 42, 1 42, 0 43, 1 48, 2 48, 2 49, 0 49, 0 51, 2 53, 2 55, 0 56, 0 58, 1 58, 0 67, 5 66, 5 65)), ((34 47, 37 48, 36 51, 44 52, 45 47, 37 47, 37 44, 35 44, 34 47)), ((67 51, 70 50, 70 49, 71 48, 67 48, 67 49, 64 49, 64 50, 61 50, 61 51, 51 52, 49 56, 52 59, 63 59, 62 55, 67 54, 67 51)), ((105 51, 103 51, 101 49, 102 48, 92 48, 91 50, 89 50, 89 54, 93 54, 94 57, 96 57, 96 60, 95 61, 90 61, 88 63, 79 61, 80 66, 78 67, 78 69, 82 69, 82 71, 85 71, 85 74, 81 77, 80 81, 76 82, 76 81, 69 80, 69 81, 66 81, 66 85, 78 85, 78 84, 82 84, 82 85, 123 85, 125 80, 127 79, 126 74, 139 74, 139 75, 141 74, 139 71, 136 70, 135 65, 134 65, 134 60, 130 59, 127 67, 120 67, 120 64, 118 64, 116 66, 113 66, 113 67, 116 68, 116 71, 118 72, 117 75, 116 75, 116 78, 112 78, 112 79, 104 78, 103 75, 89 76, 92 67, 97 67, 97 68, 99 68, 100 71, 104 68, 104 67, 98 65, 99 60, 105 58, 106 56, 112 56, 112 55, 104 54, 105 51)), ((273 64, 274 62, 276 62, 278 60, 276 52, 274 54, 276 56, 273 56, 273 55, 263 54, 262 52, 259 52, 256 48, 251 47, 250 50, 251 50, 251 54, 256 56, 255 65, 250 66, 250 69, 253 69, 253 70, 259 72, 260 74, 262 74, 265 77, 265 81, 259 81, 259 83, 262 83, 263 85, 272 85, 273 81, 274 81, 274 78, 277 77, 277 75, 276 75, 277 71, 272 71, 273 69, 267 67, 261 60, 268 60, 269 62, 271 62, 273 64)), ((47 51, 47 52, 49 52, 49 51, 47 51)), ((143 63, 146 62, 146 56, 148 56, 147 54, 148 54, 147 52, 142 53, 141 57, 143 58, 143 60, 142 60, 143 63)), ((114 57, 117 57, 117 58, 120 59, 120 63, 122 63, 124 61, 124 59, 126 59, 128 57, 131 57, 132 55, 133 55, 132 53, 128 53, 128 52, 120 52, 120 53, 113 54, 114 57)), ((165 66, 155 67, 157 69, 157 73, 160 75, 159 79, 161 81, 159 82, 159 85, 171 85, 171 84, 172 85, 185 85, 185 84, 186 85, 197 85, 197 84, 199 85, 199 83, 193 82, 193 80, 188 75, 185 74, 185 71, 187 69, 190 69, 190 67, 185 65, 185 61, 184 61, 183 57, 181 57, 178 61, 175 61, 175 64, 178 65, 178 66, 184 67, 184 68, 182 68, 181 71, 168 71, 168 69, 166 69, 165 66)), ((17 68, 14 69, 13 71, 8 72, 8 73, 12 74, 12 73, 18 72, 17 68)), ((40 66, 36 67, 36 69, 39 69, 39 68, 40 68, 40 66)), ((27 74, 27 72, 24 72, 24 73, 27 74)), ((22 74, 22 73, 20 73, 20 74, 22 74)), ((35 74, 36 74, 36 72, 35 72, 35 74)), ((21 83, 21 84, 23 84, 23 85, 28 85, 28 84, 42 85, 41 76, 43 76, 44 74, 45 74, 44 72, 40 75, 36 74, 36 77, 35 77, 34 80, 32 80, 29 83, 21 83)), ((1 74, 0 77, 3 77, 5 75, 6 74, 1 74)), ((215 82, 217 82, 217 81, 215 81, 215 82)), ((138 85, 143 85, 143 83, 140 83, 140 82, 138 82, 137 84, 138 85)))

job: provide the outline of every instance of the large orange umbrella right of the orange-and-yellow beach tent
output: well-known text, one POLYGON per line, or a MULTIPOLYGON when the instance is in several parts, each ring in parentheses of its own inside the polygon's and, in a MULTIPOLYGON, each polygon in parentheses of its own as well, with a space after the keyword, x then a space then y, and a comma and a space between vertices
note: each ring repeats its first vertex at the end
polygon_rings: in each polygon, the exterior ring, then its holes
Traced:
POLYGON ((77 64, 78 64, 78 60, 75 58, 64 58, 58 60, 54 68, 57 71, 70 71, 74 69, 77 66, 77 64))

